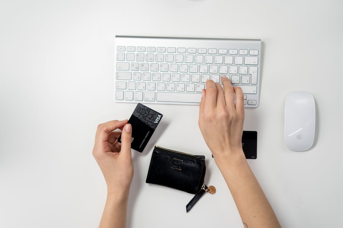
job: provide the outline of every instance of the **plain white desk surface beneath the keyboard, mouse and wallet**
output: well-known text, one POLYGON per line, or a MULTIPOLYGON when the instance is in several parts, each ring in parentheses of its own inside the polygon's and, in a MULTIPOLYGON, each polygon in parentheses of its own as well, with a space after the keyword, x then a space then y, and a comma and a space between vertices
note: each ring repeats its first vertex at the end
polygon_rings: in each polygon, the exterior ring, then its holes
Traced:
MULTIPOLYGON (((99 123, 129 118, 113 101, 116 35, 262 40, 258 132, 249 164, 283 227, 340 227, 342 1, 0 1, 0 227, 97 227, 106 185, 92 149, 99 123), (316 100, 315 144, 283 138, 288 92, 316 100)), ((198 106, 150 105, 163 121, 133 153, 127 227, 243 227, 198 129, 198 106), (205 155, 217 188, 193 197, 145 183, 153 145, 205 155)))

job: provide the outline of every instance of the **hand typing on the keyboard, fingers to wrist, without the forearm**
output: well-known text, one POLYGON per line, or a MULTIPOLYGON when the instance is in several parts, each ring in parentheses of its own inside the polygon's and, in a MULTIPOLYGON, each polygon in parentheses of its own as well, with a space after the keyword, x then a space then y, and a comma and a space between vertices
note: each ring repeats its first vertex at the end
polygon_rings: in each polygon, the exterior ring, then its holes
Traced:
POLYGON ((199 111, 200 131, 217 164, 218 159, 222 160, 233 153, 243 153, 243 91, 240 87, 232 87, 226 76, 222 77, 222 83, 224 91, 219 83, 206 81, 199 111))

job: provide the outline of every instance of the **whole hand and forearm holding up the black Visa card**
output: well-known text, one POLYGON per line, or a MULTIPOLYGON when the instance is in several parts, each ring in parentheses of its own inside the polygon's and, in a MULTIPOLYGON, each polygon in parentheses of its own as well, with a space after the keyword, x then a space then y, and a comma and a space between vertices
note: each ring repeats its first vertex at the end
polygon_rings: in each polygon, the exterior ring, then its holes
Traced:
POLYGON ((125 228, 130 185, 133 178, 131 124, 113 120, 98 126, 93 156, 104 174, 107 199, 99 228, 125 228), (116 129, 122 132, 114 131, 116 129), (121 135, 121 144, 117 139, 121 135))

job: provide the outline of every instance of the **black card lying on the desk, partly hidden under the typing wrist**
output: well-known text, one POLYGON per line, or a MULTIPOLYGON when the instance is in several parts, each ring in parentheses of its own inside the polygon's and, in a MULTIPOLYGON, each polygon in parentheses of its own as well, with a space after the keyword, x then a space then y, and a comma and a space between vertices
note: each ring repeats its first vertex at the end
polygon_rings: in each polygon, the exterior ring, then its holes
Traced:
POLYGON ((257 131, 243 131, 242 148, 246 159, 257 158, 257 131))

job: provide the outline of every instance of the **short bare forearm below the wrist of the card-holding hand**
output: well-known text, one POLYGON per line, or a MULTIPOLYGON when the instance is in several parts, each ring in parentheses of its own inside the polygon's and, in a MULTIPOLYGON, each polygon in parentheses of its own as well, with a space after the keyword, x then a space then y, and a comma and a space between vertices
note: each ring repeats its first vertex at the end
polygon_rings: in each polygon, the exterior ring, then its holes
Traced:
POLYGON ((107 194, 99 228, 125 228, 128 194, 107 194))

